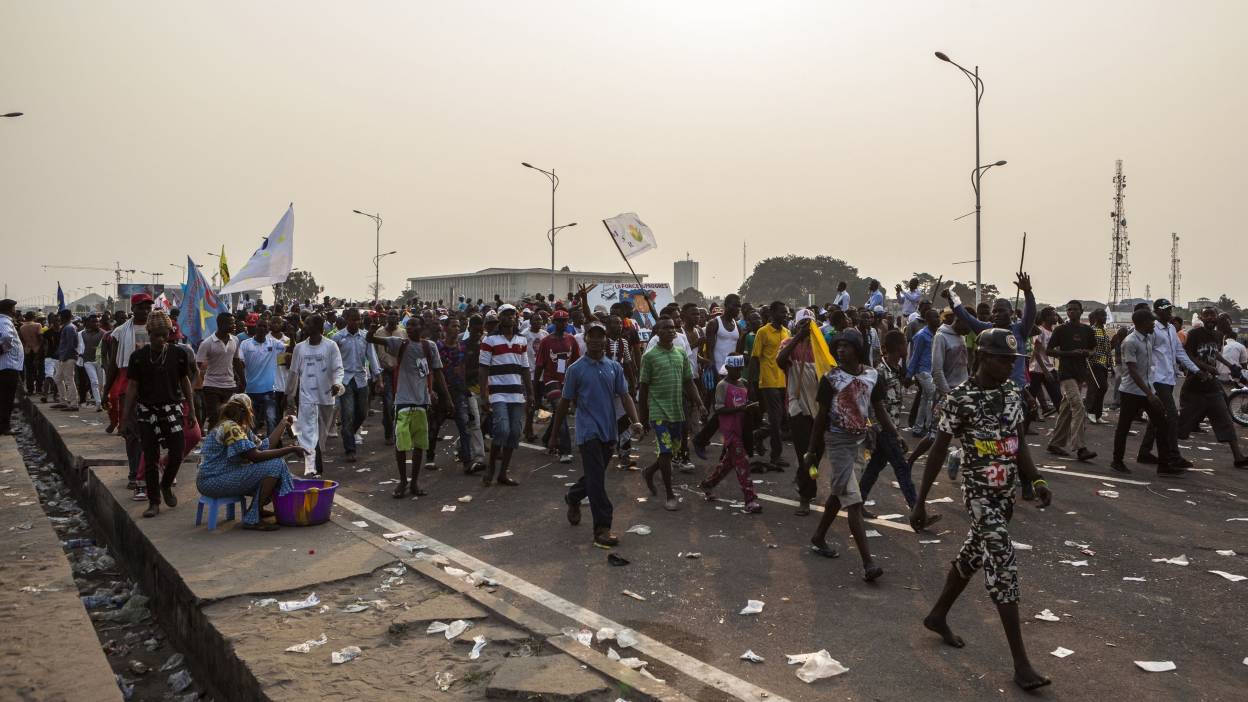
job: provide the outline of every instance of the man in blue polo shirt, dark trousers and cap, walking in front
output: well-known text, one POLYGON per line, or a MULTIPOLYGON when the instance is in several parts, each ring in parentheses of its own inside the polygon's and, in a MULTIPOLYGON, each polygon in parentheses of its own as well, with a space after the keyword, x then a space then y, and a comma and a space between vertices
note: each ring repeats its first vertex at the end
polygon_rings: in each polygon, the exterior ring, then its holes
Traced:
MULTIPOLYGON (((636 406, 628 393, 624 366, 607 357, 607 327, 592 322, 585 329, 585 355, 568 367, 563 380, 563 398, 555 408, 552 426, 562 426, 568 407, 577 403, 577 446, 584 475, 568 490, 568 522, 580 523, 580 501, 589 497, 594 517, 594 546, 612 548, 619 538, 612 533, 612 501, 607 497, 607 463, 615 451, 615 406, 620 402, 633 421, 629 432, 640 437, 645 427, 638 418, 636 406)), ((550 432, 550 447, 559 443, 558 432, 550 432)))

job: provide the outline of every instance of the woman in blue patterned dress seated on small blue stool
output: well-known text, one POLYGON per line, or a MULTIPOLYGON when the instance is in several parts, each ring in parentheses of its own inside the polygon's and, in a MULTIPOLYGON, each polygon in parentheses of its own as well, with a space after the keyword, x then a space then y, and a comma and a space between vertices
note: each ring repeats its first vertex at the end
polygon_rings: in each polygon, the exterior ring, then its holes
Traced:
POLYGON ((275 492, 286 495, 293 486, 283 457, 306 456, 307 451, 300 446, 270 448, 270 445, 281 446, 282 433, 292 417, 277 422, 273 433, 263 441, 251 431, 253 420, 251 397, 246 395, 235 395, 221 406, 217 426, 203 438, 195 485, 205 497, 251 496, 242 528, 275 531, 276 523, 261 521, 261 517, 272 517, 272 512, 261 507, 272 502, 275 492))

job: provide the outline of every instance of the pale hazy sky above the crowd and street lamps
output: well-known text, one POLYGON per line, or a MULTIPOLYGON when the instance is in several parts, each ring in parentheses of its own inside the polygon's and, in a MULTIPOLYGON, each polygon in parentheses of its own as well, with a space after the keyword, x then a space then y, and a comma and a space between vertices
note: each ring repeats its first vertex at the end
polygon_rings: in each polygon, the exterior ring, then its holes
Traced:
MULTIPOLYGON (((1103 300, 1114 159, 1132 291, 1248 304, 1248 2, 81 1, 0 4, 0 240, 9 296, 237 270, 287 202, 296 266, 364 297, 409 275, 622 270, 599 220, 638 212, 671 280, 723 294, 749 261, 826 254, 892 282, 973 279, 981 66, 983 277, 1020 239, 1041 297, 1103 300), (136 281, 150 276, 136 276, 136 281)), ((84 291, 77 291, 84 292, 84 291)))

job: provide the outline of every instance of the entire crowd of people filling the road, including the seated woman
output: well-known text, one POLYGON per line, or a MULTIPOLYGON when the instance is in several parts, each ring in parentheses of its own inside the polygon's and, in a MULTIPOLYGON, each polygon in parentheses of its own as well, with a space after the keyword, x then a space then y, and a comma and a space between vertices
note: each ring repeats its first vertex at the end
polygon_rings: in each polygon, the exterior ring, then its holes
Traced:
POLYGON ((866 497, 880 473, 892 470, 910 523, 922 531, 940 518, 926 497, 948 470, 960 476, 971 530, 925 625, 961 646, 946 615, 983 570, 1016 680, 1031 688, 1047 678, 1022 645, 1007 525, 1016 493, 1045 505, 1052 496, 1026 436, 1052 420, 1045 451, 1091 462, 1088 425, 1118 410, 1108 468, 1131 472, 1126 443, 1144 415, 1136 462, 1181 476, 1192 463, 1178 441, 1208 421, 1233 465, 1248 467, 1223 397, 1223 383, 1248 367, 1248 351, 1212 309, 1184 331, 1172 304, 1156 300, 1114 330, 1104 310, 1085 322, 1077 300, 1065 315, 1037 310, 1026 274, 1016 286, 1021 309, 1005 297, 968 309, 951 291, 930 297, 911 280, 895 286, 892 314, 879 281, 861 306, 841 284, 822 306, 755 306, 729 295, 709 307, 671 304, 656 317, 634 315, 628 301, 590 309, 588 287, 559 301, 257 302, 217 315, 215 334, 195 349, 181 339, 177 310, 154 310, 146 294, 130 300, 130 315, 81 319, 67 310, 19 315, 5 300, 0 433, 19 386, 55 410, 107 411, 106 431, 125 441, 129 487, 147 502, 145 517, 177 503, 178 466, 200 446, 198 491, 251 496, 243 526, 273 530, 265 507, 291 490, 288 466, 332 475, 333 438, 343 461, 357 461, 371 412, 381 411, 394 452, 396 498, 426 495, 422 470, 442 467, 437 445, 451 422, 457 462, 484 486, 518 485, 512 463, 522 442, 560 462, 579 452, 583 475, 564 496, 567 518, 578 525, 588 500, 592 540, 603 548, 619 542, 607 487, 613 465, 640 472, 670 511, 681 506, 674 471, 698 472, 694 457, 706 462, 698 490, 711 498, 731 475, 746 513, 763 511, 751 473, 791 471, 797 515, 825 493, 811 551, 839 556, 827 533, 844 510, 869 582, 884 575, 864 527, 875 517, 866 497), (633 450, 651 432, 653 458, 639 466, 633 450))

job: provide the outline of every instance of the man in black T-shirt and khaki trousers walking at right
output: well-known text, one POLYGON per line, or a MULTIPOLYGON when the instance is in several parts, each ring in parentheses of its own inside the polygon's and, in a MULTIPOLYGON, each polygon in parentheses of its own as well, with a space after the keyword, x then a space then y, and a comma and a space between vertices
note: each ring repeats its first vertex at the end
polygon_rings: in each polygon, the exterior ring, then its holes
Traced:
POLYGON ((1096 351, 1096 332, 1083 324, 1083 304, 1071 300, 1066 304, 1066 324, 1053 330, 1048 337, 1047 353, 1060 360, 1057 381, 1062 388, 1062 407, 1057 412, 1057 426, 1048 440, 1048 452, 1055 456, 1070 456, 1066 443, 1070 441, 1075 457, 1080 461, 1096 458, 1085 440, 1087 430, 1087 408, 1083 406, 1082 387, 1096 382, 1088 360, 1096 351))

